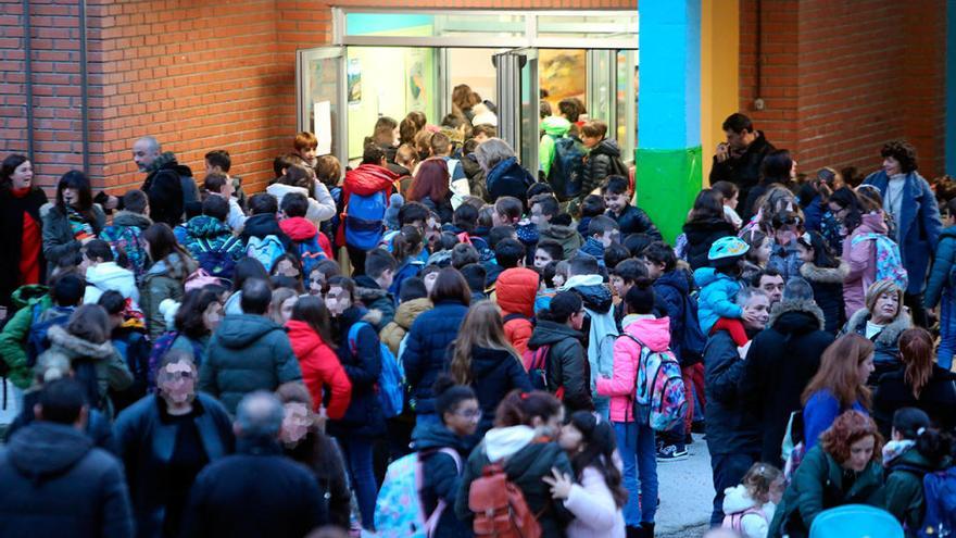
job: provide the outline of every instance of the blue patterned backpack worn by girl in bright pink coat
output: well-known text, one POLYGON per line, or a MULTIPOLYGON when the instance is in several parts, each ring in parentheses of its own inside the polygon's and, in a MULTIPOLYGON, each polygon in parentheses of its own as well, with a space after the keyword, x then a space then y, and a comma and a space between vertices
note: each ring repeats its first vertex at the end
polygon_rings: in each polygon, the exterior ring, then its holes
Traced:
POLYGON ((651 351, 641 340, 625 333, 641 347, 638 364, 634 416, 645 418, 655 431, 667 431, 683 422, 687 398, 680 364, 670 351, 651 351))

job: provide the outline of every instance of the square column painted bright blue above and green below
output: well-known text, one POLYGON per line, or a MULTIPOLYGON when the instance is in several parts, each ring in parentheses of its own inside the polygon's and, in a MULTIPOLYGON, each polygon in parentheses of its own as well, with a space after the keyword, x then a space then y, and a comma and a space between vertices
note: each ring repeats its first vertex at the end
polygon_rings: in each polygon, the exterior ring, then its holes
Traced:
POLYGON ((701 190, 701 0, 641 2, 638 204, 672 241, 701 190))

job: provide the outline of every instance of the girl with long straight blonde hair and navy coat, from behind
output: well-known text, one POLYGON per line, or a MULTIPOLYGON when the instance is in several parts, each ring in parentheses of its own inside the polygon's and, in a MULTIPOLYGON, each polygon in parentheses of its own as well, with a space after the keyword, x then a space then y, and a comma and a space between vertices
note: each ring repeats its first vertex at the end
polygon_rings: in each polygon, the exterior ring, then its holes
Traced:
POLYGON ((458 385, 470 386, 481 406, 478 434, 491 429, 494 409, 514 389, 531 390, 518 352, 504 336, 501 311, 491 301, 468 310, 458 337, 449 347, 449 371, 458 385))

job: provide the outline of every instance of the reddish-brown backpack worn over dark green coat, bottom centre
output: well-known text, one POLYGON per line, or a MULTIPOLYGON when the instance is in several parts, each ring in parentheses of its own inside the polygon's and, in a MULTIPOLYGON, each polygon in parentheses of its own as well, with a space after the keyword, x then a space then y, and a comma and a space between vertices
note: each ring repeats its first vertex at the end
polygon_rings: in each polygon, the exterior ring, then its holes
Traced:
POLYGON ((521 490, 507 479, 502 463, 491 463, 468 489, 468 509, 475 514, 475 537, 539 538, 541 525, 521 490))

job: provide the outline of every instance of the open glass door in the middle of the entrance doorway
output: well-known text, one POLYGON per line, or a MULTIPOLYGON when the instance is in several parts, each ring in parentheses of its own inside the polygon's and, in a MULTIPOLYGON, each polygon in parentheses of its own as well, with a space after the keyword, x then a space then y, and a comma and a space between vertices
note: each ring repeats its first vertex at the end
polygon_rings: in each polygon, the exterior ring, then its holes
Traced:
POLYGON ((538 175, 538 50, 494 54, 498 72, 498 134, 515 149, 521 165, 538 175))

